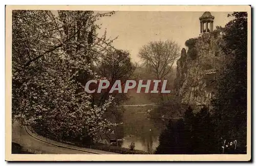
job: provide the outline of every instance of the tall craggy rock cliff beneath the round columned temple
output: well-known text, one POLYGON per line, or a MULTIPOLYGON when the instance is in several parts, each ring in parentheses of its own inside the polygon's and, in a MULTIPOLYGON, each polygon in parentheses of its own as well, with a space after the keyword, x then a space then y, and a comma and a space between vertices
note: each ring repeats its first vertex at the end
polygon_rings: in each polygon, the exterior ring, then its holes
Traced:
POLYGON ((185 42, 177 61, 175 88, 182 103, 200 108, 210 106, 216 91, 218 70, 225 61, 220 44, 223 42, 220 32, 203 33, 197 38, 185 42))

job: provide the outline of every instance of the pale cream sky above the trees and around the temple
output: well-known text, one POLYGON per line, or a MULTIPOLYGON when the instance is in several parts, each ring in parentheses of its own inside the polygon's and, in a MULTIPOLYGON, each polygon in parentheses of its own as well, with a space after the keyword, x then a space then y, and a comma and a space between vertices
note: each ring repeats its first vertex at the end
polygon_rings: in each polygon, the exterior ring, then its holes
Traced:
MULTIPOLYGON (((185 41, 200 34, 199 17, 204 12, 172 11, 117 11, 111 17, 102 17, 96 23, 102 23, 99 35, 118 38, 113 42, 116 49, 127 50, 132 61, 139 62, 139 49, 150 41, 175 40, 180 50, 185 48, 185 41)), ((215 16, 216 26, 224 27, 232 17, 230 12, 211 12, 215 16)))

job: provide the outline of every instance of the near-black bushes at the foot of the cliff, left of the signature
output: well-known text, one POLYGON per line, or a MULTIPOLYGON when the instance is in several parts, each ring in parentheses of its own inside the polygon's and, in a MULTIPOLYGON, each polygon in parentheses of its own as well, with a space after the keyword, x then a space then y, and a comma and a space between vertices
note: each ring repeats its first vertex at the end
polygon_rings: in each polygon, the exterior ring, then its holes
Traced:
POLYGON ((217 151, 213 124, 207 108, 194 113, 189 107, 183 119, 170 121, 159 138, 156 154, 212 154, 217 151))

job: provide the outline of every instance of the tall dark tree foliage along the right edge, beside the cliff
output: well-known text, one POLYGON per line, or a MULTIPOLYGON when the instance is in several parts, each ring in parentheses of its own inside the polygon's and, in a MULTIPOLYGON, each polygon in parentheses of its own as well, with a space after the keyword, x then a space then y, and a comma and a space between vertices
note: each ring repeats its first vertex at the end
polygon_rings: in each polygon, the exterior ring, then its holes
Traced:
POLYGON ((219 137, 237 139, 246 146, 247 138, 247 13, 234 12, 224 28, 222 50, 230 59, 220 73, 213 101, 219 137))

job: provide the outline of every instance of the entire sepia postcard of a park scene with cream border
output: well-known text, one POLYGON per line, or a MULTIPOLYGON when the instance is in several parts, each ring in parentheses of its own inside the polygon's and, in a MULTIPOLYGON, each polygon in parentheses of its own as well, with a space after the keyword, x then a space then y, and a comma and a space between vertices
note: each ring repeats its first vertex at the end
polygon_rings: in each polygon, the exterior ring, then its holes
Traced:
POLYGON ((6 6, 6 160, 250 160, 250 31, 250 6, 6 6))

